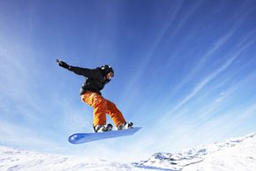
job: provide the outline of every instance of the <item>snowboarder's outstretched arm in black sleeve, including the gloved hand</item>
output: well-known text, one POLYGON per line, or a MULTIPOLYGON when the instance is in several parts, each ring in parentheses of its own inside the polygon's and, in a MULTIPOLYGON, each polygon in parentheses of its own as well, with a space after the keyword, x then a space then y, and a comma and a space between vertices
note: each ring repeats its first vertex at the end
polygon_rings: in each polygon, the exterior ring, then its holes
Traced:
POLYGON ((71 66, 67 63, 64 63, 63 61, 60 61, 59 59, 56 59, 56 62, 59 66, 63 67, 64 69, 67 69, 69 71, 73 71, 74 73, 78 75, 85 76, 87 78, 100 78, 100 72, 95 70, 90 70, 87 68, 80 68, 76 66, 71 66))

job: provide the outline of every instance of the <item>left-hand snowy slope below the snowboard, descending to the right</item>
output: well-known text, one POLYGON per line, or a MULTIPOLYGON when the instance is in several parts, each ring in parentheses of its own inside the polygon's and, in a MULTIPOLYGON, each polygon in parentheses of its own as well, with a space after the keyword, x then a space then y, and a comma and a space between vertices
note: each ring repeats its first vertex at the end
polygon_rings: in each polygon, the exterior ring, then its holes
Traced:
POLYGON ((83 171, 83 170, 145 170, 116 162, 71 156, 28 152, 0 146, 1 171, 83 171))

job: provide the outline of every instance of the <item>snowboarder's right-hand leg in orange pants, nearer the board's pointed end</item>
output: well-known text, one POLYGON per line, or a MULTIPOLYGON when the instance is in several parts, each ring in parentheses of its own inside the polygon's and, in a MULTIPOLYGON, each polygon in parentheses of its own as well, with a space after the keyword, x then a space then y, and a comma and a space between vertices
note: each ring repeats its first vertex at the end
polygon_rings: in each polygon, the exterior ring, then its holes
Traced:
POLYGON ((124 115, 120 112, 117 106, 109 100, 106 100, 106 101, 107 101, 107 107, 108 107, 106 113, 109 114, 113 123, 115 123, 116 127, 121 124, 124 124, 125 123, 124 115))

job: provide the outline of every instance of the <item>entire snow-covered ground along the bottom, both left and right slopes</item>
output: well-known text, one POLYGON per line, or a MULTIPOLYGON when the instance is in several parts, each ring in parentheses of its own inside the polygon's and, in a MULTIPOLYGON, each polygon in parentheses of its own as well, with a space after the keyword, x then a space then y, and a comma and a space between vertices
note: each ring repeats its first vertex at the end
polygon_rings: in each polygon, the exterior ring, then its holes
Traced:
POLYGON ((148 160, 117 163, 101 159, 31 152, 0 146, 0 170, 256 170, 256 133, 177 153, 157 152, 148 160))

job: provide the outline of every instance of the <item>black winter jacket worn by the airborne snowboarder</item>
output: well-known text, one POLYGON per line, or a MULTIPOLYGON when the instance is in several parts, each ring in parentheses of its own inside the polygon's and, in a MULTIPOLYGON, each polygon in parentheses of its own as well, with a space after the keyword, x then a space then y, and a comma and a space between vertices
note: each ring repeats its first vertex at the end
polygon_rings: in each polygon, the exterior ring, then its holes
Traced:
POLYGON ((106 85, 110 81, 106 78, 104 72, 100 67, 91 70, 87 68, 70 66, 68 70, 73 71, 74 73, 84 76, 86 78, 85 83, 80 89, 80 95, 86 93, 87 91, 102 95, 101 90, 104 88, 104 85, 106 85))

